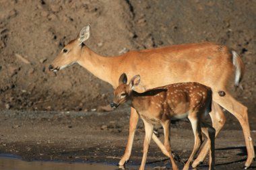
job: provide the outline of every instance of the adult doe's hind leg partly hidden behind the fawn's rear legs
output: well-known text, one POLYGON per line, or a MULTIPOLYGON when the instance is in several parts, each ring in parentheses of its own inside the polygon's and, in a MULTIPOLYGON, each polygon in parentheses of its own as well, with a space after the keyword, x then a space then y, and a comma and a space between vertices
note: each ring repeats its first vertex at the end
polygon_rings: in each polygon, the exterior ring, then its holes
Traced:
MULTIPOLYGON (((217 137, 220 130, 222 130, 224 124, 226 123, 226 117, 222 112, 222 108, 220 108, 220 105, 218 105, 216 102, 212 103, 212 112, 210 113, 210 116, 212 118, 212 126, 216 130, 215 137, 217 137)), ((192 167, 197 167, 201 162, 203 162, 206 155, 208 154, 209 149, 210 141, 207 140, 199 155, 197 156, 197 159, 193 161, 192 167)))

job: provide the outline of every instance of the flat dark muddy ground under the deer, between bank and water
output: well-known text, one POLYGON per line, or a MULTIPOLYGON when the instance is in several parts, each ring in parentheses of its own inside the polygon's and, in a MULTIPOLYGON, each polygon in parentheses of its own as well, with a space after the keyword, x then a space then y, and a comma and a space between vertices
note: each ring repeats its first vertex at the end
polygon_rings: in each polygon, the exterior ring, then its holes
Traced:
MULTIPOLYGON (((98 162, 118 164, 129 133, 129 108, 115 112, 19 112, 0 113, 0 153, 18 155, 26 161, 98 162), (107 120, 107 121, 106 121, 107 120)), ((163 140, 162 128, 157 128, 163 140)), ((143 124, 139 122, 128 165, 141 161, 143 124)), ((246 159, 241 130, 222 130, 216 140, 216 169, 240 169, 246 159)), ((256 130, 252 130, 256 138, 256 130)), ((186 161, 193 148, 193 133, 188 121, 172 124, 174 153, 186 161)), ((207 161, 199 169, 207 168, 207 161)), ((182 163, 178 163, 180 167, 182 163)), ((170 161, 151 143, 148 167, 170 168, 170 161)), ((256 163, 252 165, 256 168, 256 163)), ((129 166, 128 166, 129 168, 129 166)), ((131 168, 130 168, 131 169, 131 168)))

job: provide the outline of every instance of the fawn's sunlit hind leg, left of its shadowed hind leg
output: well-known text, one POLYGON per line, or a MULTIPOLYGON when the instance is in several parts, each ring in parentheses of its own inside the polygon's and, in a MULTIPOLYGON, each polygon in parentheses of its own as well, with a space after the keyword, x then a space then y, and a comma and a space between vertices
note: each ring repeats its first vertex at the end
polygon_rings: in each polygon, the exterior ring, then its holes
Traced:
MULTIPOLYGON (((193 113, 191 113, 191 114, 193 114, 193 113)), ((201 135, 201 127, 200 127, 198 118, 196 116, 189 116, 189 121, 191 122, 193 133, 195 136, 195 144, 194 144, 193 151, 192 151, 189 159, 187 160, 187 163, 183 167, 183 170, 189 169, 189 165, 190 165, 191 161, 193 160, 195 154, 199 150, 199 147, 201 146, 201 143, 203 140, 202 135, 201 135)))

